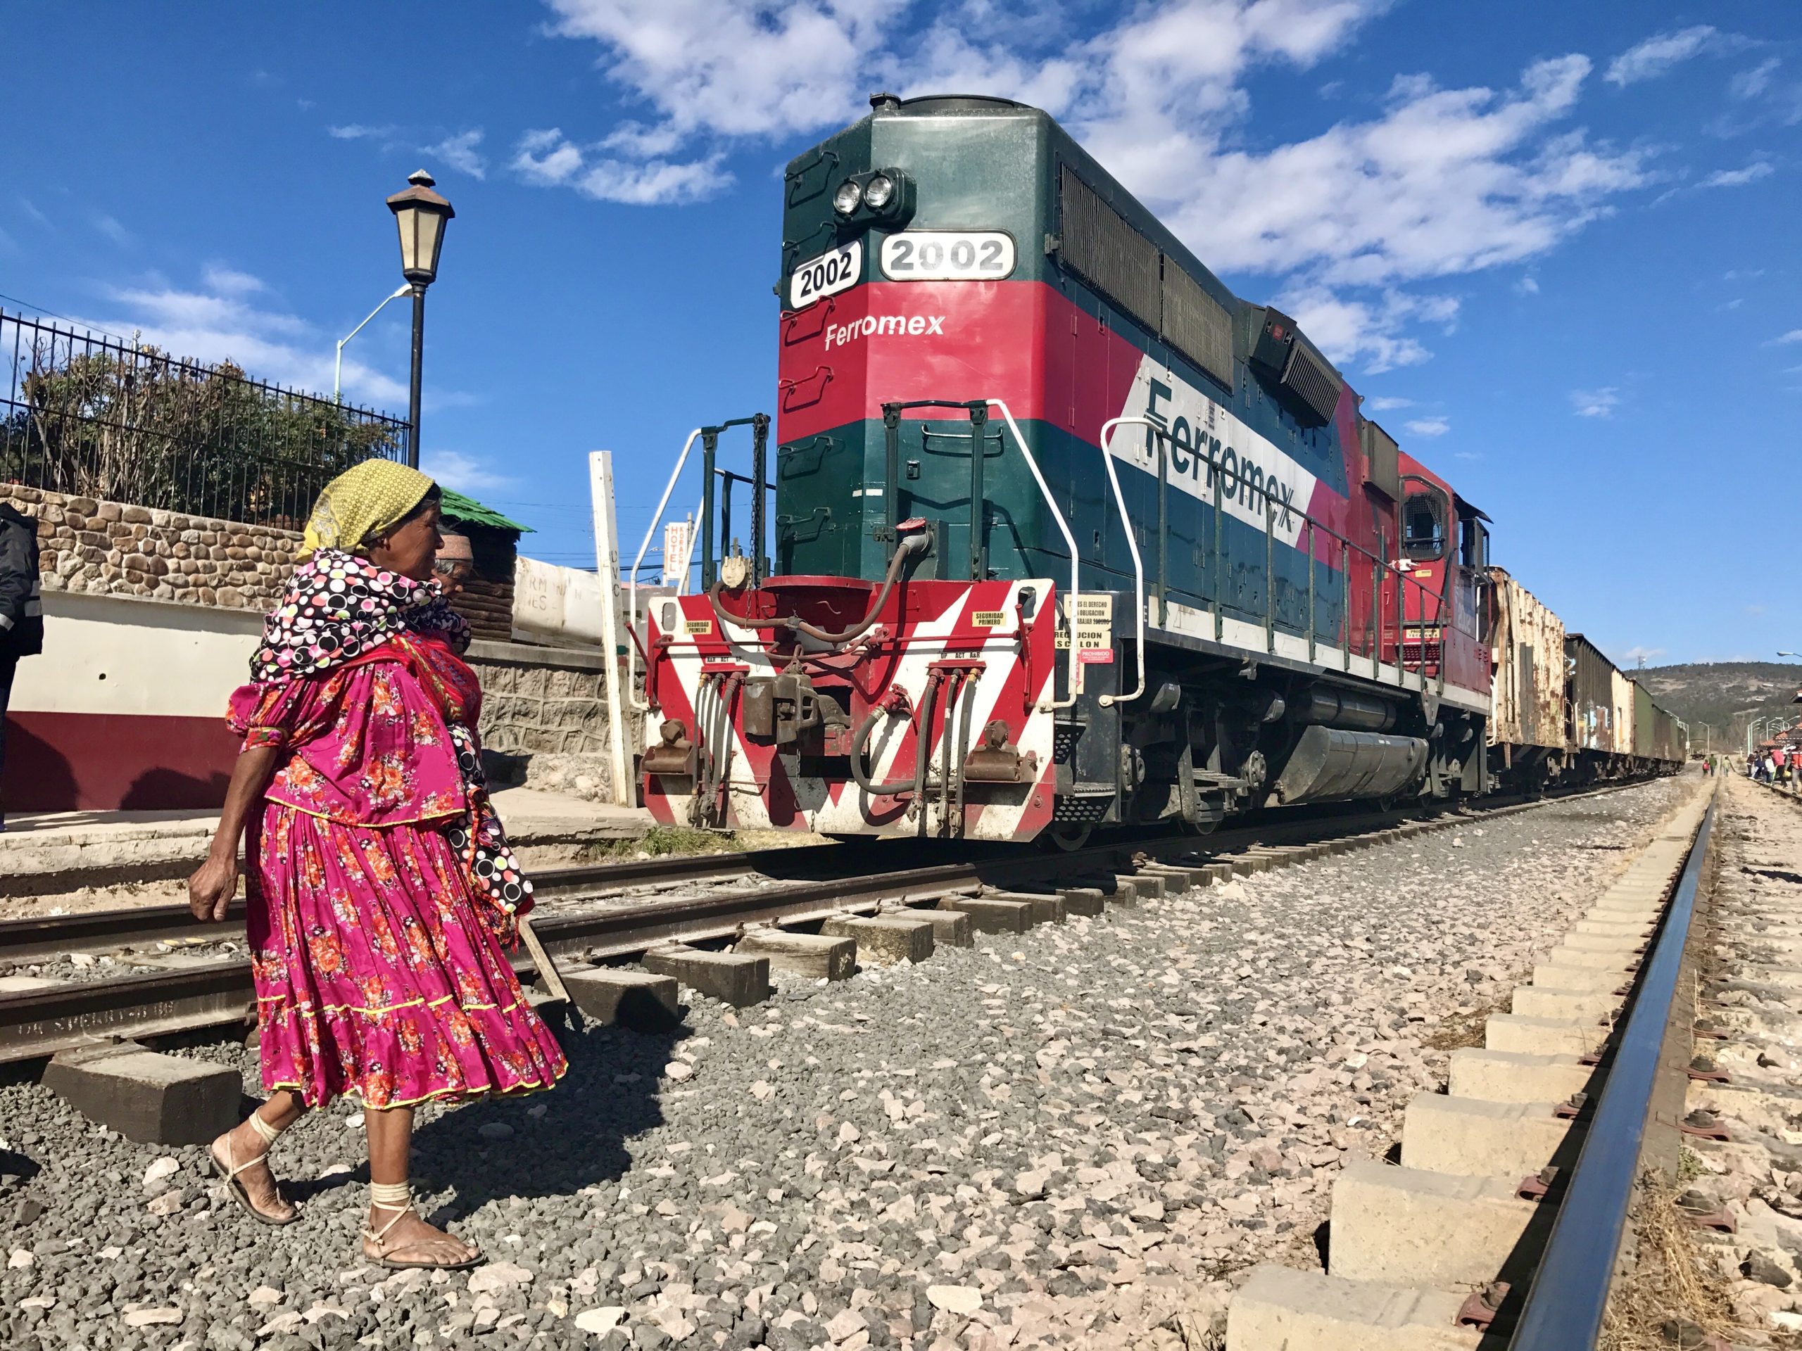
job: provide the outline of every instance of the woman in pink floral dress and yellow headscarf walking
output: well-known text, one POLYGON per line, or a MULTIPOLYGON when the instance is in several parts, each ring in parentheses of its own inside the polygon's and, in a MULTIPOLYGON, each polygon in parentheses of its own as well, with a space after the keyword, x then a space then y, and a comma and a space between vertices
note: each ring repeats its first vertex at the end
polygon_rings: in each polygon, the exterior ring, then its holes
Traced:
POLYGON ((550 1088, 566 1063, 506 960, 532 884, 483 785, 481 690, 469 627, 431 582, 438 540, 418 470, 366 461, 321 494, 312 557, 231 701, 243 751, 189 897, 223 919, 243 838, 270 1097, 213 1142, 231 1194, 296 1220, 265 1155, 350 1093, 369 1138, 364 1254, 456 1268, 481 1256, 411 1209, 414 1104, 550 1088))

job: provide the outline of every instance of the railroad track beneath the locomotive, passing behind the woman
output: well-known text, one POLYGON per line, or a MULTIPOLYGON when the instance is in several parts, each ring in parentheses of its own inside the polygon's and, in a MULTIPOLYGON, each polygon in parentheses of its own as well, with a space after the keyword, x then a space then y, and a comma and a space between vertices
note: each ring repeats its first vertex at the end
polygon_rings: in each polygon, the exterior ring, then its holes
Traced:
MULTIPOLYGON (((550 868, 535 874, 539 908, 515 964, 539 998, 562 1000, 557 958, 618 964, 751 929, 805 933, 836 917, 950 910, 955 899, 1020 892, 1106 904, 1622 787, 1461 811, 1290 814, 1204 838, 1148 836, 1067 854, 924 841, 928 861, 917 863, 921 841, 876 841, 550 868), (914 866, 892 866, 903 852, 914 866)), ((1051 913, 1047 906, 1033 920, 1051 913)), ((782 955, 775 960, 780 967, 782 955)), ((243 901, 222 924, 202 924, 184 906, 9 920, 0 924, 0 1065, 247 1027, 254 985, 243 901)))

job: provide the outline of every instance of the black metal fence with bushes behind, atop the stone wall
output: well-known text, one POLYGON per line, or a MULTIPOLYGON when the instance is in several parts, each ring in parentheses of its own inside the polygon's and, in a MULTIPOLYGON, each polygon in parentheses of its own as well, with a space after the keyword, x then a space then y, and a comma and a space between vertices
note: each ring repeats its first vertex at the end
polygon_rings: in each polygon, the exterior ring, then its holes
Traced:
POLYGON ((5 310, 0 360, 0 483, 299 530, 333 476, 405 454, 405 420, 5 310))

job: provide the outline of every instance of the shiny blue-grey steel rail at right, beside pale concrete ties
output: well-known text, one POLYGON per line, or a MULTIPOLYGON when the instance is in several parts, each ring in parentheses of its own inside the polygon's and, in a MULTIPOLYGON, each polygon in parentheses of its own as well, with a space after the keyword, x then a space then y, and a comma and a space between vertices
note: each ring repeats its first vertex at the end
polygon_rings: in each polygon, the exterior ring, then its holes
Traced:
POLYGON ((1716 802, 1710 802, 1660 924, 1658 944, 1640 969, 1633 1012, 1615 1047, 1602 1099, 1508 1342, 1510 1351, 1593 1351, 1602 1331, 1703 861, 1714 834, 1714 812, 1716 802))

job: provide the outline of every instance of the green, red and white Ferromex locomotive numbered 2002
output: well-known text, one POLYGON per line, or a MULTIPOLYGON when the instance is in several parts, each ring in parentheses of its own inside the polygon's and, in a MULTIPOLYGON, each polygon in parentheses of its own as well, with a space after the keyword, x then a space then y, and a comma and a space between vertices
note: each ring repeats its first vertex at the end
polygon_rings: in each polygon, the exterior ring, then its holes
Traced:
POLYGON ((769 418, 699 427, 658 506, 699 443, 654 814, 1074 843, 1488 787, 1487 517, 1049 115, 878 95, 782 234, 773 476, 769 418))

